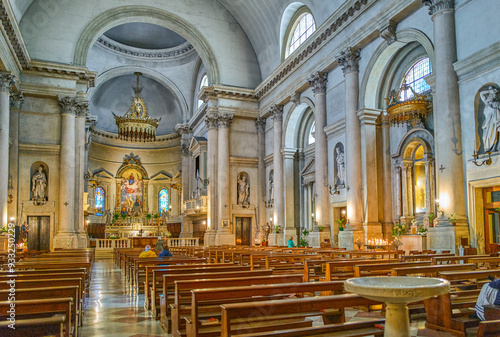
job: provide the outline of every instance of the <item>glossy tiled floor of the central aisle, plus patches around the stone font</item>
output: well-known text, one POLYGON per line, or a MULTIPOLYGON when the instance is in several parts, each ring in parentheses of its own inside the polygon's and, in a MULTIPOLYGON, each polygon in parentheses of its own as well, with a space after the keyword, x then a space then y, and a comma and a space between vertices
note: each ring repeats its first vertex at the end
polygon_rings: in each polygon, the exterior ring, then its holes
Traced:
MULTIPOLYGON (((81 337, 169 336, 143 307, 144 295, 135 295, 111 259, 96 261, 87 298, 81 337)), ((347 310, 347 320, 383 318, 379 312, 347 310)), ((425 318, 411 323, 412 337, 452 337, 424 328, 425 318)))

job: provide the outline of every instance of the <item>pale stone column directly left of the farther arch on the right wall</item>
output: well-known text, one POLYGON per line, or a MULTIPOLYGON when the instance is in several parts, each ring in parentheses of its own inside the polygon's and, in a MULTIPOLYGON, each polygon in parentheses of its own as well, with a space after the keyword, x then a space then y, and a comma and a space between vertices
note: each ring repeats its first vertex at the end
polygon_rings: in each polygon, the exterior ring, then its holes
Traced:
MULTIPOLYGON (((274 214, 273 227, 281 226, 285 228, 285 205, 283 189, 283 158, 281 155, 281 137, 283 123, 283 106, 271 106, 271 116, 273 118, 273 169, 274 169, 274 214)), ((274 232, 274 228, 271 228, 274 232)), ((276 238, 276 242, 283 242, 283 239, 276 238)))

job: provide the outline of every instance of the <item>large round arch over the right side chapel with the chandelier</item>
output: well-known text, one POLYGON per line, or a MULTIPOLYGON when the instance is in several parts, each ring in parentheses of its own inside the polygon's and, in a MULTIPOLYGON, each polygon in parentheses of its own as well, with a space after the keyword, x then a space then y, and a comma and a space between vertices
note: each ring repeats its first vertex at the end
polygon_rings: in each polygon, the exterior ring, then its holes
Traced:
POLYGON ((434 65, 434 46, 423 32, 413 28, 402 29, 396 32, 396 40, 390 45, 385 41, 381 42, 373 53, 361 81, 359 92, 360 108, 381 108, 380 97, 383 94, 383 84, 391 60, 408 44, 412 42, 420 44, 429 56, 431 64, 434 65))

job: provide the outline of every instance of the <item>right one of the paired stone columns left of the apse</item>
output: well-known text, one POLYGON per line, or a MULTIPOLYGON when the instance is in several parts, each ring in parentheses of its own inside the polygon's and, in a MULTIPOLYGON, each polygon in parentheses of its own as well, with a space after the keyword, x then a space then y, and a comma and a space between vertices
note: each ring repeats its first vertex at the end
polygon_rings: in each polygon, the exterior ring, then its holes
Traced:
MULTIPOLYGON (((85 233, 85 215, 83 211, 83 193, 85 180, 85 120, 89 112, 89 102, 78 104, 75 118, 75 231, 78 237, 78 248, 87 248, 85 233)), ((109 195, 107 195, 109 198, 109 195)))

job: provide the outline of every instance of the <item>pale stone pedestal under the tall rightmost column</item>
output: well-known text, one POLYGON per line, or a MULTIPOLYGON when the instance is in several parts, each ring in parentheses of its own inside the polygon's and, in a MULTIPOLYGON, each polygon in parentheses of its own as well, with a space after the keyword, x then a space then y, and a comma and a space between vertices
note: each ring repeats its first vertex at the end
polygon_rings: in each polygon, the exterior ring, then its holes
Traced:
POLYGON ((458 254, 458 249, 461 247, 461 238, 469 239, 469 228, 467 226, 431 227, 427 231, 427 247, 437 253, 449 250, 458 254))

